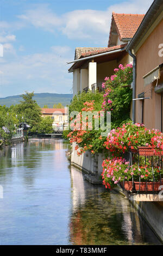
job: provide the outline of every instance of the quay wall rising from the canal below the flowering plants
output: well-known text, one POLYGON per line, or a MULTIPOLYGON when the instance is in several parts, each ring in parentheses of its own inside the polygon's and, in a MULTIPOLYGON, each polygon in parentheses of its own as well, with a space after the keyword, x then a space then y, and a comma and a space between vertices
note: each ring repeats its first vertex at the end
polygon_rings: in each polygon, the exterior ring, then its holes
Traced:
MULTIPOLYGON (((75 146, 76 144, 73 143, 71 164, 86 174, 95 174, 95 172, 97 172, 96 174, 98 176, 101 175, 104 154, 96 154, 95 156, 92 156, 90 151, 86 151, 84 154, 78 156, 76 150, 74 149, 75 146)), ((87 180, 91 182, 90 179, 87 180)), ((132 197, 129 197, 129 193, 122 190, 120 186, 117 186, 114 190, 128 198, 130 203, 134 205, 139 214, 154 231, 156 236, 158 236, 159 239, 163 242, 163 202, 153 202, 152 200, 149 200, 148 202, 138 202, 132 197)))

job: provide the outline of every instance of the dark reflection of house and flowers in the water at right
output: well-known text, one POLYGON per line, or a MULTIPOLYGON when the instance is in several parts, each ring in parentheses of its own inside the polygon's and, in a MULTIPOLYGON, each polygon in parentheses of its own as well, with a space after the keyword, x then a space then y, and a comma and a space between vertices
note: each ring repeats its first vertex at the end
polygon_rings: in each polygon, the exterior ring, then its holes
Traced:
POLYGON ((71 244, 160 244, 127 199, 84 181, 83 174, 74 167, 71 167, 71 179, 71 244))

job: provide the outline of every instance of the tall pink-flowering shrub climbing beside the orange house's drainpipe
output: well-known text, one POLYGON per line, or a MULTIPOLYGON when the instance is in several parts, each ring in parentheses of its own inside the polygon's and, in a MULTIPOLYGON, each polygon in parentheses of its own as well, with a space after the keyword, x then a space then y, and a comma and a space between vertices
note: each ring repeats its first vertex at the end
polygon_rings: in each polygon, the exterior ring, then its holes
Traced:
POLYGON ((115 74, 105 77, 102 87, 105 88, 102 109, 111 111, 112 127, 119 126, 122 121, 130 119, 130 102, 132 91, 129 84, 132 82, 133 65, 119 65, 114 69, 115 74))

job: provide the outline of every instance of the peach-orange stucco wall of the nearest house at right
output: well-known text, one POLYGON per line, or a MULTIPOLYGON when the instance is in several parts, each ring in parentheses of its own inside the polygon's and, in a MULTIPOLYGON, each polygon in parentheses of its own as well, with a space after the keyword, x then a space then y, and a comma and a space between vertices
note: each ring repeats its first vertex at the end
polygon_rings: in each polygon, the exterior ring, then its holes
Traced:
MULTIPOLYGON (((143 76, 148 74, 156 66, 163 63, 163 57, 160 57, 159 44, 163 43, 163 20, 155 27, 153 32, 148 36, 143 45, 136 52, 137 59, 137 77, 136 77, 136 97, 138 94, 145 92, 145 97, 149 96, 149 100, 145 100, 144 106, 144 124, 149 129, 161 130, 161 94, 154 92, 156 81, 144 86, 143 76)), ((158 83, 163 82, 163 72, 158 83)), ((142 102, 137 100, 135 103, 136 122, 141 123, 142 102)))

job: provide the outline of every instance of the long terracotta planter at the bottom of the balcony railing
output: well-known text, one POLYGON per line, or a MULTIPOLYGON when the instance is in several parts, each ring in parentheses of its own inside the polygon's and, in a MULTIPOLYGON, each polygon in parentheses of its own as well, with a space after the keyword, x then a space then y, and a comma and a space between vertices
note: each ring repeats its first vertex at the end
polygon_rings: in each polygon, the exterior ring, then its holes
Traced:
POLYGON ((136 191, 160 191, 159 187, 163 185, 160 182, 140 182, 134 181, 136 191))

